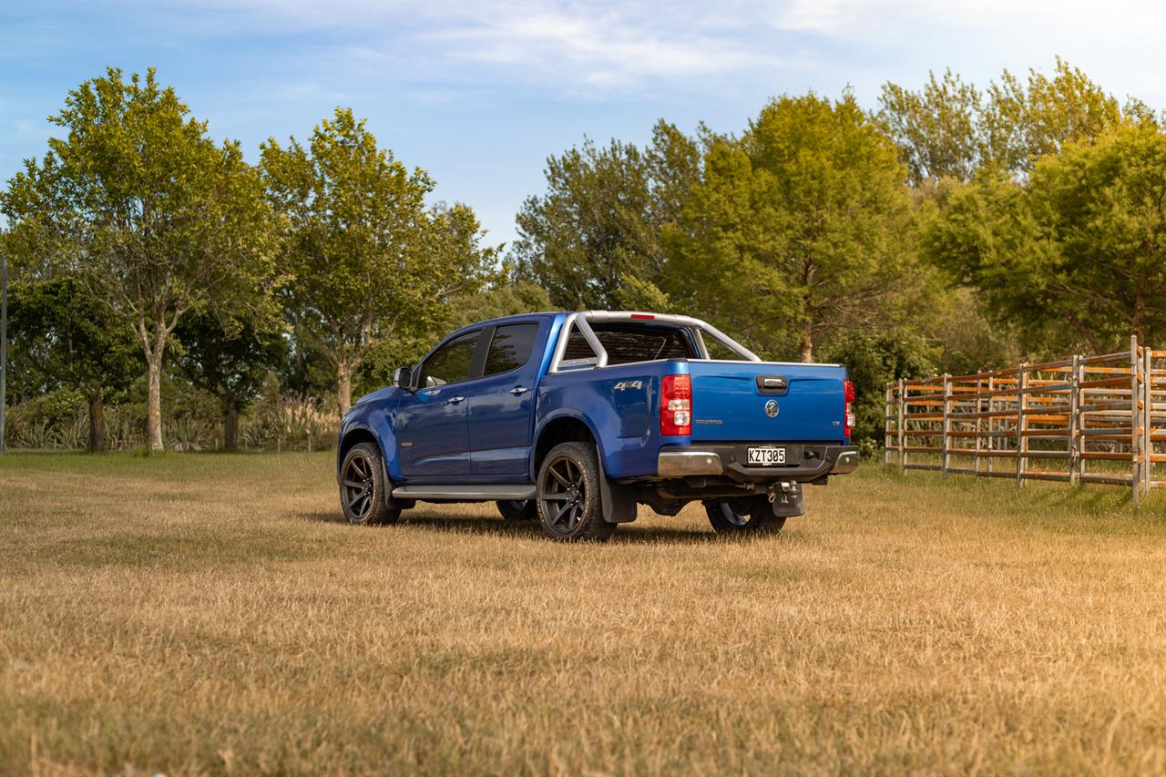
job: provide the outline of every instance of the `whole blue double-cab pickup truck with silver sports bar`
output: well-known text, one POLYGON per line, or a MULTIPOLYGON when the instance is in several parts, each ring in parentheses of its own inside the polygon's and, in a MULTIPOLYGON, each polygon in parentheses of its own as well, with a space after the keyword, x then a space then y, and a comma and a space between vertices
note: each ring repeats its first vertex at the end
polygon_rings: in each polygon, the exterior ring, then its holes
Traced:
POLYGON ((340 425, 340 505, 386 524, 417 501, 496 502, 557 540, 605 540, 646 504, 704 504, 724 533, 778 532, 802 484, 851 473, 836 364, 763 362, 711 324, 631 312, 465 327, 340 425))

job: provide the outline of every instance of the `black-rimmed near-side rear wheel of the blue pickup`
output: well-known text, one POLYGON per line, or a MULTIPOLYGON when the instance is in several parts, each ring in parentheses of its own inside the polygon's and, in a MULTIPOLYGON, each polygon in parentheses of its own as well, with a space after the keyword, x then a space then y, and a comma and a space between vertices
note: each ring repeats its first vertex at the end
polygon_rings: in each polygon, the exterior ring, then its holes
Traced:
POLYGON ((603 519, 599 461, 595 446, 563 442, 539 467, 539 522, 552 539, 605 541, 616 524, 603 519))

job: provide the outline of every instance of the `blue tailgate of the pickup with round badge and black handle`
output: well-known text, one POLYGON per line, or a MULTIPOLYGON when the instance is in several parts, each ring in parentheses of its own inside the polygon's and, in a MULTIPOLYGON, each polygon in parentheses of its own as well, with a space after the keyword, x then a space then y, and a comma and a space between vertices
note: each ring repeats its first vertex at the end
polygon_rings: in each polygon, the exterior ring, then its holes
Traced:
POLYGON ((694 442, 847 441, 838 365, 690 360, 688 369, 694 442))

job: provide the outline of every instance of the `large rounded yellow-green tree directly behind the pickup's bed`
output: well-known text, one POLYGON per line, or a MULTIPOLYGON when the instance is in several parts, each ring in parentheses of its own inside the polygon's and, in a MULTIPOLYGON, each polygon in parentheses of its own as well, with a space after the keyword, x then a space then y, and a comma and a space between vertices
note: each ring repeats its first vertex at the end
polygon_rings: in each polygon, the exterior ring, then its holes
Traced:
POLYGON ((922 286, 905 178, 849 92, 775 99, 740 140, 710 141, 669 231, 666 290, 754 350, 807 362, 822 336, 888 326, 901 295, 922 286))

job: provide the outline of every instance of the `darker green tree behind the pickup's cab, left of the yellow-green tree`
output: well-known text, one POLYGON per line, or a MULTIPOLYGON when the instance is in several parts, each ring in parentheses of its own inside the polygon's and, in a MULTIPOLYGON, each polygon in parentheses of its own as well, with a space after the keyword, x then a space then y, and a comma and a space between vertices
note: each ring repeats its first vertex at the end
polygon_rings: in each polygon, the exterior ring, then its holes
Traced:
POLYGON ((698 166, 693 140, 663 121, 642 150, 585 139, 549 158, 546 194, 527 198, 517 217, 520 275, 560 308, 625 307, 632 279, 654 286, 667 274, 661 228, 679 216, 698 166))

